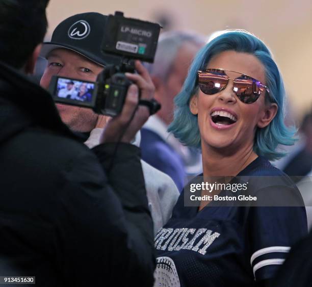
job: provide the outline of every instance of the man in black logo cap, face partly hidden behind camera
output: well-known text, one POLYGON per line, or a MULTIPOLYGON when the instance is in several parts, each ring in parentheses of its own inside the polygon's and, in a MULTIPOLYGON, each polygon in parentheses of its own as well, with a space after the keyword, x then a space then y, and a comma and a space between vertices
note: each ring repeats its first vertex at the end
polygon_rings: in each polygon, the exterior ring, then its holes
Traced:
MULTIPOLYGON (((48 60, 40 81, 42 87, 48 88, 53 75, 94 82, 104 66, 120 63, 120 58, 104 56, 100 50, 106 20, 107 16, 99 13, 82 13, 65 19, 57 26, 51 41, 43 43, 41 50, 41 56, 48 60)), ((140 63, 137 63, 137 69, 142 70, 140 63)), ((63 122, 73 131, 84 133, 85 143, 90 148, 98 145, 108 117, 76 106, 57 103, 57 108, 63 122)), ((139 134, 134 144, 140 145, 139 134)), ((169 176, 144 161, 141 163, 156 233, 169 220, 179 193, 169 176)))

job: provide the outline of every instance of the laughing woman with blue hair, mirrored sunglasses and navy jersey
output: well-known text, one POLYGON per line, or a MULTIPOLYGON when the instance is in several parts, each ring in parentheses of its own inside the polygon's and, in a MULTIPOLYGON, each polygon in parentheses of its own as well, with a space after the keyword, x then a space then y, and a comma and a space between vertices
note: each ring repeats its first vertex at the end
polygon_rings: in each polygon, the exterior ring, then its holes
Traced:
MULTIPOLYGON (((301 202, 298 189, 268 161, 283 156, 277 145, 294 142, 295 130, 283 122, 284 101, 270 51, 250 33, 227 31, 199 51, 175 98, 169 131, 201 148, 205 179, 247 176, 249 194, 264 201, 220 206, 199 185, 198 206, 187 206, 185 188, 155 237, 155 285, 266 286, 306 234, 304 207, 278 202, 286 191, 301 202), (272 194, 279 206, 268 206, 272 194)), ((224 191, 216 186, 210 192, 218 198, 224 191)))

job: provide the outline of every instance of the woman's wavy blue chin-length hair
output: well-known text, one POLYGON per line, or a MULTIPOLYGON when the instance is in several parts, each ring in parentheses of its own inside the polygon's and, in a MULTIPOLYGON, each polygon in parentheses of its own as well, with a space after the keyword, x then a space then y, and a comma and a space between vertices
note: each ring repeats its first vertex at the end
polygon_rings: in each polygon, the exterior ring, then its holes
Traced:
POLYGON ((198 92, 197 71, 206 68, 209 61, 223 51, 234 50, 239 53, 249 53, 255 56, 265 67, 266 85, 270 93, 269 100, 278 106, 277 114, 270 124, 257 128, 253 149, 258 155, 269 160, 279 159, 285 153, 276 151, 279 144, 293 145, 295 127, 284 124, 285 89, 281 74, 272 59, 268 47, 258 38, 244 31, 224 33, 207 43, 196 55, 181 92, 175 97, 176 109, 174 119, 169 125, 169 132, 185 145, 200 148, 200 133, 197 115, 193 115, 189 103, 198 92))

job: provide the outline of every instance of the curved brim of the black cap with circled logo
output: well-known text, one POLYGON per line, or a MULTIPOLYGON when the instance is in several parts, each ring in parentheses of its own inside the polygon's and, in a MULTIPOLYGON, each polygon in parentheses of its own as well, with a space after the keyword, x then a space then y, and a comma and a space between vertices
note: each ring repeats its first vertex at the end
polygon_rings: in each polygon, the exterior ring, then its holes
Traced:
MULTIPOLYGON (((100 66, 107 66, 108 64, 112 64, 112 63, 115 64, 115 61, 113 61, 111 59, 111 57, 109 58, 108 61, 105 61, 105 59, 101 59, 98 57, 94 57, 93 55, 90 55, 87 51, 77 49, 76 47, 73 47, 73 46, 54 43, 54 42, 43 42, 39 56, 47 59, 47 56, 49 55, 50 51, 55 50, 55 49, 59 49, 59 48, 72 50, 72 51, 88 58, 89 60, 91 60, 92 62, 95 62, 96 64, 98 64, 100 66)), ((103 58, 105 58, 105 57, 103 57, 103 58)))

